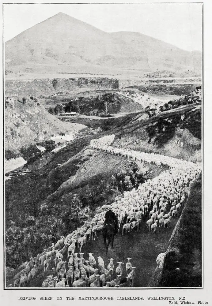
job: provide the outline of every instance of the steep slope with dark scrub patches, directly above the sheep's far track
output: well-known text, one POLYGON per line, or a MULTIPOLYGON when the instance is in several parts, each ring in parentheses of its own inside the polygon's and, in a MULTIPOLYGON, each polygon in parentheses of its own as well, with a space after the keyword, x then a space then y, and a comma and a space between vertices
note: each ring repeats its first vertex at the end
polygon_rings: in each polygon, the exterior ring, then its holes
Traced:
POLYGON ((198 119, 201 109, 184 111, 182 114, 183 119, 181 114, 173 111, 165 118, 158 116, 149 120, 134 120, 125 128, 119 128, 113 146, 200 161, 201 140, 198 137, 201 137, 201 121, 198 119), (134 144, 136 140, 138 143, 134 144))

